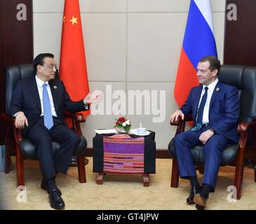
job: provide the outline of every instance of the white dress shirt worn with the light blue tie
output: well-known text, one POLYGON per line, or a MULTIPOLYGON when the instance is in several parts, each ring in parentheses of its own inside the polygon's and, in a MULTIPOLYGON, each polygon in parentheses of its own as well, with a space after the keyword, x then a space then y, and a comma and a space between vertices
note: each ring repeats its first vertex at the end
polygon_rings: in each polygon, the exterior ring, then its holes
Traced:
POLYGON ((37 85, 37 89, 39 91, 39 98, 40 98, 40 104, 41 104, 41 116, 43 116, 43 84, 46 83, 46 90, 48 92, 48 96, 50 99, 50 109, 52 111, 52 116, 54 117, 58 117, 55 111, 55 107, 53 104, 53 95, 50 92, 50 85, 48 82, 43 82, 43 80, 41 80, 40 78, 38 78, 36 76, 36 85, 37 85))

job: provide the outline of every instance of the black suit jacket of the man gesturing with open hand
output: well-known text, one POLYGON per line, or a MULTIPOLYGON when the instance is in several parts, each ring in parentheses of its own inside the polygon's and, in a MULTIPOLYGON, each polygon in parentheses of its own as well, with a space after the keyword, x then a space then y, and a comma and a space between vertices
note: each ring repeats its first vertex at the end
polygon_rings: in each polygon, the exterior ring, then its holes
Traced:
MULTIPOLYGON (((52 79, 49 80, 50 91, 53 95, 53 103, 56 114, 63 124, 65 122, 64 111, 70 113, 76 113, 79 111, 85 111, 86 108, 83 104, 83 99, 79 102, 73 102, 69 98, 69 94, 65 89, 65 85, 61 80, 52 79)), ((29 127, 32 127, 41 116, 41 104, 39 98, 39 92, 36 85, 36 78, 23 78, 18 82, 18 85, 13 90, 13 97, 8 113, 11 115, 23 111, 27 117, 29 127)), ((29 127, 26 127, 24 133, 27 132, 29 127)))

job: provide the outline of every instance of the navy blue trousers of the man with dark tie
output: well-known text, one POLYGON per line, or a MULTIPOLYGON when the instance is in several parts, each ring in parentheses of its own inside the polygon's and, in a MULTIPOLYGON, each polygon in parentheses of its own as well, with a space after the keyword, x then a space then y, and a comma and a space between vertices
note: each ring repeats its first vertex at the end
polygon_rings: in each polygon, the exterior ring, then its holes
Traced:
MULTIPOLYGON (((191 153, 191 148, 201 145, 200 135, 210 127, 202 127, 200 131, 191 130, 177 134, 174 139, 174 148, 177 155, 180 177, 187 179, 189 176, 196 176, 196 169, 191 153)), ((220 134, 215 134, 203 146, 204 172, 203 184, 208 184, 215 189, 217 174, 220 168, 222 152, 230 144, 230 141, 220 134)))

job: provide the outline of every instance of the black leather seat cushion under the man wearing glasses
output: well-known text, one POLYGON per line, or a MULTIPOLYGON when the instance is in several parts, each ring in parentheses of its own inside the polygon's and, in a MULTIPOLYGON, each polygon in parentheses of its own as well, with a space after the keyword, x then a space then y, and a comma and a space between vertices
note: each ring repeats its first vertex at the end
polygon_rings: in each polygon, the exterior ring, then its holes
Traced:
MULTIPOLYGON (((86 147, 87 147, 86 138, 83 137, 83 135, 81 135, 80 138, 81 138, 81 141, 79 143, 79 146, 74 150, 74 153, 73 153, 74 156, 81 155, 84 151, 86 151, 86 147)), ((32 142, 29 141, 29 139, 22 139, 21 141, 18 142, 18 144, 25 158, 30 160, 38 160, 35 147, 32 144, 32 142)), ((53 141, 52 146, 53 146, 53 155, 54 155, 60 148, 60 144, 53 141)))

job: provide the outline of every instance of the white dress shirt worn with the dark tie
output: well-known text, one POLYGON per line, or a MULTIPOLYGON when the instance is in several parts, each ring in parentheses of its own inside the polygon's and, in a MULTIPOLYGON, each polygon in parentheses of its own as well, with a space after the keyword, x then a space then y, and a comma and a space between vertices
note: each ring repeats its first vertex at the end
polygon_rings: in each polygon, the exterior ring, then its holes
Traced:
MULTIPOLYGON (((213 91, 215 90, 215 86, 217 85, 218 79, 216 79, 213 83, 210 83, 210 85, 208 85, 208 90, 207 90, 207 99, 206 99, 206 105, 204 106, 203 109, 203 124, 209 123, 209 108, 210 108, 210 99, 213 96, 213 91)), ((206 92, 205 90, 206 85, 203 85, 203 90, 201 92, 201 97, 200 97, 200 101, 198 104, 198 108, 199 105, 201 103, 201 99, 203 97, 204 92, 206 92)))

